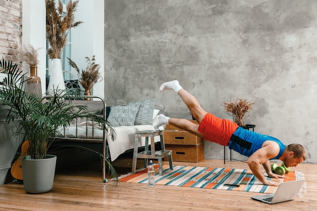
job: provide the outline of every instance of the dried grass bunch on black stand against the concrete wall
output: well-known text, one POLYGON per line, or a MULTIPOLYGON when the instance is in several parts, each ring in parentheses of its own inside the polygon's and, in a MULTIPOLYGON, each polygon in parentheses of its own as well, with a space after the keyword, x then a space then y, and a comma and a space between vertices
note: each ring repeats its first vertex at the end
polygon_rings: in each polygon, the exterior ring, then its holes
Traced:
POLYGON ((229 115, 232 115, 233 121, 239 126, 245 126, 244 118, 246 113, 252 110, 254 102, 245 98, 236 98, 235 101, 224 102, 222 106, 229 115))

